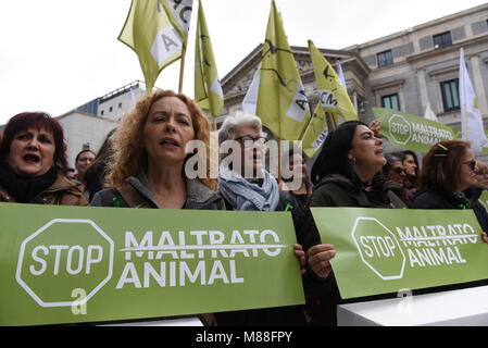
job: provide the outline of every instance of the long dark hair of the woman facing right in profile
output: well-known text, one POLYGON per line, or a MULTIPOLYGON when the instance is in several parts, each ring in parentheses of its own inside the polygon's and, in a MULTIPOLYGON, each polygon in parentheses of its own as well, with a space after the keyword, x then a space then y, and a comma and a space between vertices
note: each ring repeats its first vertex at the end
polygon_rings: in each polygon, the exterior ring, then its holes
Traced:
POLYGON ((349 121, 329 132, 312 166, 311 178, 314 185, 318 184, 325 176, 331 174, 340 174, 349 178, 353 184, 361 185, 348 159, 355 129, 360 125, 367 127, 367 124, 364 122, 349 121))

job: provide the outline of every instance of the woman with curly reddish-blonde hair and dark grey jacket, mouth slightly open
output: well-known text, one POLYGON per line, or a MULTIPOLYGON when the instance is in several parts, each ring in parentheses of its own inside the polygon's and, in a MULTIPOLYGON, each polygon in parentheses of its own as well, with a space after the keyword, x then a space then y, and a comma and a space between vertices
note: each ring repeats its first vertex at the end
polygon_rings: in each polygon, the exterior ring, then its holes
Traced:
POLYGON ((193 100, 162 89, 142 96, 113 135, 110 188, 98 192, 91 206, 225 209, 215 179, 209 178, 209 141, 210 123, 193 100), (200 140, 203 149, 186 153, 191 140, 200 140), (207 164, 198 178, 185 171, 192 156, 207 164))

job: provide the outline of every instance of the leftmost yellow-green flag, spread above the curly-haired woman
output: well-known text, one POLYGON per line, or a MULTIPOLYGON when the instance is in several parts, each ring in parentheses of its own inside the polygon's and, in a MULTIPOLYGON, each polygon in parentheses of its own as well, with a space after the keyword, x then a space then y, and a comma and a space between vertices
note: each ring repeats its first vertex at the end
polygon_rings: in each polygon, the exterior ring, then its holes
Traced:
MULTIPOLYGON (((124 27, 118 35, 118 40, 137 53, 148 91, 152 90, 161 71, 182 58, 186 36, 182 25, 175 27, 173 24, 177 22, 174 11, 179 9, 182 17, 186 18, 184 14, 189 10, 185 10, 179 1, 175 2, 178 7, 173 7, 170 13, 167 10, 172 2, 175 1, 133 0, 124 27)), ((180 23, 184 23, 183 20, 180 23)))

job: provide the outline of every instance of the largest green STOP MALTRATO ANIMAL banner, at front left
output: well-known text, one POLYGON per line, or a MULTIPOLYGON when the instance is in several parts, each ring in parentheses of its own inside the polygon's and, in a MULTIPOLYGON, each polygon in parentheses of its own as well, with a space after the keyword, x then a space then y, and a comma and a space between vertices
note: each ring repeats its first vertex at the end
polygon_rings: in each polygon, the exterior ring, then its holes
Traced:
POLYGON ((0 325, 304 302, 290 213, 8 204, 0 325))

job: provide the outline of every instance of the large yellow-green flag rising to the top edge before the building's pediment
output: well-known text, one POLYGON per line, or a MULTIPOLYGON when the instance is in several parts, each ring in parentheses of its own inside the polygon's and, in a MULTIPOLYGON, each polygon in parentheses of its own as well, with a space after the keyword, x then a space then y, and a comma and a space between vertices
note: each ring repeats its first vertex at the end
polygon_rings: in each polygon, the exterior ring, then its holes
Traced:
POLYGON ((272 1, 263 47, 256 114, 284 140, 298 140, 310 120, 305 89, 275 1, 272 1))

